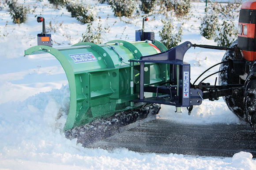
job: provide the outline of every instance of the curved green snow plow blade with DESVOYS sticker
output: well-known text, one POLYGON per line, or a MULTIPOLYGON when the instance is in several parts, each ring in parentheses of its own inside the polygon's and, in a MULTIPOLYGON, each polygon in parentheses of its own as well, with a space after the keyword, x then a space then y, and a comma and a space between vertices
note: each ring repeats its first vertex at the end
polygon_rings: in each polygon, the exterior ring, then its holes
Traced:
MULTIPOLYGON (((158 41, 113 40, 62 48, 39 45, 27 49, 25 55, 50 53, 60 61, 70 88, 70 108, 64 127, 69 130, 120 110, 135 109, 130 101, 139 97, 139 64, 129 60, 166 50, 158 41)), ((157 86, 168 79, 166 64, 146 63, 144 72, 147 85, 157 86)))

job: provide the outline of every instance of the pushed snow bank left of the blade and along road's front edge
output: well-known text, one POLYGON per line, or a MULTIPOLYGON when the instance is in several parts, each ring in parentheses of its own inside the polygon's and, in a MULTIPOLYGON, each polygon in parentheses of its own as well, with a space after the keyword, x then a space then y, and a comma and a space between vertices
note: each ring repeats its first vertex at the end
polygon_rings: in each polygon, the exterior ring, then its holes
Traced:
POLYGON ((248 152, 221 159, 83 148, 62 132, 68 102, 68 86, 63 86, 22 102, 1 104, 0 169, 256 169, 248 152))

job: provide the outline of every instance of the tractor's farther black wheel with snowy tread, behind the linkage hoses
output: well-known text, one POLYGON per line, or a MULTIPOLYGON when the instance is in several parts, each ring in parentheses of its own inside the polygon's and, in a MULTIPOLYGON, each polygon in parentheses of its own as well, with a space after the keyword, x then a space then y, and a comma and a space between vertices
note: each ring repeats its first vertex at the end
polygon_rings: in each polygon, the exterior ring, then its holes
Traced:
MULTIPOLYGON (((235 40, 230 48, 237 47, 237 40, 235 40)), ((226 51, 222 61, 228 61, 229 59, 235 58, 234 52, 231 50, 226 51)), ((220 72, 218 75, 219 85, 226 84, 240 84, 244 83, 244 80, 241 80, 239 76, 235 75, 228 68, 229 63, 223 63, 220 65, 219 70, 227 69, 226 71, 220 72)), ((224 101, 226 102, 228 108, 236 114, 239 118, 246 120, 245 105, 244 105, 244 96, 223 96, 224 101)))

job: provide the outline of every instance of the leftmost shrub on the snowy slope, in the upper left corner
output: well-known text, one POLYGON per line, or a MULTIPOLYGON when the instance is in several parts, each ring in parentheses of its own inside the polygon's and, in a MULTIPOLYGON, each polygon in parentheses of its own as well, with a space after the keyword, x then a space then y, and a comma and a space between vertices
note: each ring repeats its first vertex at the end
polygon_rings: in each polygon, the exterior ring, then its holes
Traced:
POLYGON ((10 8, 10 14, 13 22, 15 24, 20 24, 26 22, 26 14, 28 9, 23 5, 18 5, 16 0, 8 1, 8 6, 10 8))

